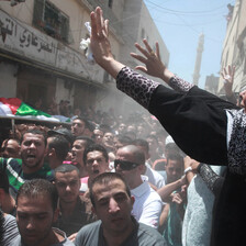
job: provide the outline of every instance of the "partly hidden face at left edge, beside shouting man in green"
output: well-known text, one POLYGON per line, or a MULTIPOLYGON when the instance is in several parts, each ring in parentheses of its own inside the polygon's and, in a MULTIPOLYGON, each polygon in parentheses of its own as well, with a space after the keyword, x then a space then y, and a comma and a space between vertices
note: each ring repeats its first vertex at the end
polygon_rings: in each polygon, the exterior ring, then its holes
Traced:
POLYGON ((20 158, 20 145, 14 139, 5 139, 1 146, 1 157, 4 158, 20 158))

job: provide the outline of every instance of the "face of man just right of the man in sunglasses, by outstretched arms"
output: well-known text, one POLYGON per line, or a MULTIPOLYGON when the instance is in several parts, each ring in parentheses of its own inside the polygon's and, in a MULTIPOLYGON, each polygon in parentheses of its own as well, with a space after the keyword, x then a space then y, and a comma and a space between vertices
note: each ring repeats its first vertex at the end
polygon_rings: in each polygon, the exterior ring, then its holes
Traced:
POLYGON ((183 172, 182 164, 176 159, 168 159, 166 172, 168 182, 174 182, 180 179, 183 172))

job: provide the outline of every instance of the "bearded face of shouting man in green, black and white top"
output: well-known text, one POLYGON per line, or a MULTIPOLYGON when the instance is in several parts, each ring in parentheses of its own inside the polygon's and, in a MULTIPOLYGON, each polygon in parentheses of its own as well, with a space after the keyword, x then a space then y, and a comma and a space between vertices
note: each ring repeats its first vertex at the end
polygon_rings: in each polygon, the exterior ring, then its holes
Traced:
POLYGON ((46 154, 44 136, 40 134, 26 133, 21 143, 21 158, 26 168, 26 172, 38 170, 44 163, 46 154))

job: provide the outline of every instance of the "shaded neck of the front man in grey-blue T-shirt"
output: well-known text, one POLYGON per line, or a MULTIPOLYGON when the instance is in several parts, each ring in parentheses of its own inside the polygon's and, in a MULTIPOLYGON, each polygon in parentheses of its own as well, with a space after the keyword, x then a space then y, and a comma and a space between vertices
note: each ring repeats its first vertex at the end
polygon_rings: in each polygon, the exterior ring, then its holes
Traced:
POLYGON ((126 226, 125 231, 122 233, 113 233, 103 230, 103 236, 107 241, 108 246, 120 246, 122 243, 132 234, 134 230, 134 223, 131 223, 126 226))

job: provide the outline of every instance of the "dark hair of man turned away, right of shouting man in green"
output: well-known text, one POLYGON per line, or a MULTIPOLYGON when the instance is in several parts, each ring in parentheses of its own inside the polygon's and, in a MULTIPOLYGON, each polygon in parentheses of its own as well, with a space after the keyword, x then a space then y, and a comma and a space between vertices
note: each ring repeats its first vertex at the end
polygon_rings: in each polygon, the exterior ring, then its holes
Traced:
POLYGON ((56 156, 59 160, 64 160, 69 152, 69 142, 63 135, 53 135, 51 136, 52 142, 48 144, 48 148, 55 148, 56 156))

